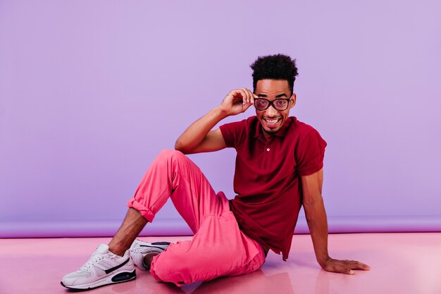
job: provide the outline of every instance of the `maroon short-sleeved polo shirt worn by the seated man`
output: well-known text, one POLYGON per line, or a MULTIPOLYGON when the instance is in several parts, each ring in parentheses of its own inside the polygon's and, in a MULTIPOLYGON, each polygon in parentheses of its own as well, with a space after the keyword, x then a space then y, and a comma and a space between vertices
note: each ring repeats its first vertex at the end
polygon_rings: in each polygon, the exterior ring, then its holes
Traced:
POLYGON ((221 125, 227 147, 236 149, 234 190, 230 207, 242 231, 288 258, 302 207, 302 182, 323 167, 326 142, 297 118, 287 119, 266 140, 256 116, 221 125))

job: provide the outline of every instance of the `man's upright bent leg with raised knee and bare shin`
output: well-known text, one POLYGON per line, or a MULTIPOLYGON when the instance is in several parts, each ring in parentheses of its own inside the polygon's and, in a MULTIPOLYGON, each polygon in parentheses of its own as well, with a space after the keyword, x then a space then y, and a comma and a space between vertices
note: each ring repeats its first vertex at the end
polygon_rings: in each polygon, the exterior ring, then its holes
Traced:
POLYGON ((223 195, 216 195, 196 164, 181 152, 164 150, 152 162, 128 202, 128 214, 109 243, 111 252, 123 255, 169 197, 194 233, 206 215, 222 214, 228 209, 228 203, 225 207, 220 201, 223 195))

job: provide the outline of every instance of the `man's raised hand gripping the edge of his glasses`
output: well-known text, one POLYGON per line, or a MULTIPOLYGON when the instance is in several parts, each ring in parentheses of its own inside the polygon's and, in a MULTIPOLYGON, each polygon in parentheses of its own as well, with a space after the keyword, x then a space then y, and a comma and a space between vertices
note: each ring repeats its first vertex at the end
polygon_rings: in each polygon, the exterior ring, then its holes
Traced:
POLYGON ((235 116, 249 109, 254 104, 254 98, 257 98, 253 92, 247 88, 231 90, 223 99, 220 107, 227 116, 235 116))

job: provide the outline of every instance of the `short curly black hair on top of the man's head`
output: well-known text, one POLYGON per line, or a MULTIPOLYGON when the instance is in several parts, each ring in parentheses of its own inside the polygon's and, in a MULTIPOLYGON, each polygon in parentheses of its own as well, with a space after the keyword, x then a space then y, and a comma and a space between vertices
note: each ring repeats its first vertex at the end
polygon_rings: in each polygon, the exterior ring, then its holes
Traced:
POLYGON ((253 91, 256 91, 258 80, 287 80, 291 89, 294 90, 294 80, 297 73, 295 59, 283 54, 259 56, 251 66, 253 70, 253 91))

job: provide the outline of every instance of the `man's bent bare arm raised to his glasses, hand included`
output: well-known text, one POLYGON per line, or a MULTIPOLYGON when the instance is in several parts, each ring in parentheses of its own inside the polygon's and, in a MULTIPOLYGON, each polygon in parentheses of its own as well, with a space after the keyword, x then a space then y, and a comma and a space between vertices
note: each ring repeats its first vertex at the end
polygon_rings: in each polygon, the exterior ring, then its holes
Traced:
POLYGON ((223 118, 246 111, 254 103, 254 97, 254 94, 246 88, 230 91, 221 105, 192 123, 178 137, 175 142, 175 149, 184 154, 192 154, 212 152, 227 147, 221 130, 211 129, 223 118))

